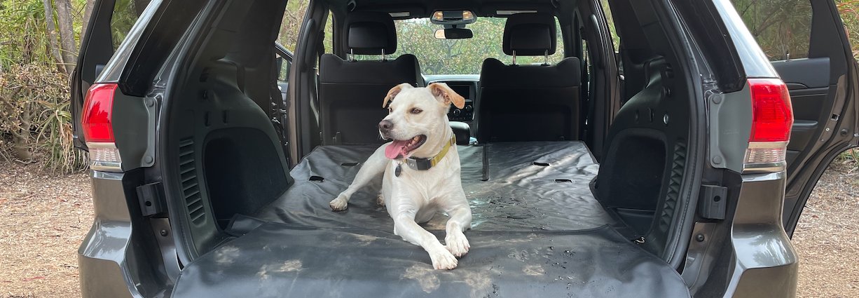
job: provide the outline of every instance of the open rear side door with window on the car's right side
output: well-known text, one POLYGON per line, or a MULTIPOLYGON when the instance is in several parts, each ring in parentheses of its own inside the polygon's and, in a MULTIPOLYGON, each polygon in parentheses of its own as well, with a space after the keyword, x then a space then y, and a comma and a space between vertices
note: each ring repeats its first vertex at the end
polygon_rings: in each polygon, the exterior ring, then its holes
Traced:
POLYGON ((795 121, 788 143, 783 223, 793 234, 830 161, 856 146, 856 59, 839 15, 841 4, 833 0, 733 3, 789 88, 795 121))

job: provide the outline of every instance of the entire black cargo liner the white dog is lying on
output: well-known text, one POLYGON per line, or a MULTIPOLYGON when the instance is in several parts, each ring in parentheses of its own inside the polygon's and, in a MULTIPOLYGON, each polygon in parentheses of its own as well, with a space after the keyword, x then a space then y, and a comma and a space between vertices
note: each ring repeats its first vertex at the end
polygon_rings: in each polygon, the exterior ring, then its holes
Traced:
MULTIPOLYGON (((375 146, 322 146, 290 174, 295 184, 239 237, 187 265, 177 296, 688 296, 677 271, 624 238, 589 189, 598 165, 583 143, 460 146, 472 205, 472 246, 453 271, 393 234, 378 187, 332 212, 375 146)), ((447 216, 423 226, 444 238, 447 216)))

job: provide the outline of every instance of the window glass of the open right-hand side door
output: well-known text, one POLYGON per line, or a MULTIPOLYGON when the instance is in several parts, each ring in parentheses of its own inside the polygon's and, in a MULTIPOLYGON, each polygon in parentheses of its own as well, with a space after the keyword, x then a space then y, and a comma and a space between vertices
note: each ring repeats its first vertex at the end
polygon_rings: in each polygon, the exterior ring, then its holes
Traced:
POLYGON ((770 61, 808 58, 812 9, 809 0, 732 0, 770 61))

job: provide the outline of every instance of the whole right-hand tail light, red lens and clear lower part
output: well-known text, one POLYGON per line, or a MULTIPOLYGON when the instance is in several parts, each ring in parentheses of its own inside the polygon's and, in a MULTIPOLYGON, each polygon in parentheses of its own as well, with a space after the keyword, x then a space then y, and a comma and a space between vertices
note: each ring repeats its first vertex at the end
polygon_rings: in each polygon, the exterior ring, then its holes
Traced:
POLYGON ((746 149, 745 169, 754 172, 783 170, 793 106, 787 86, 779 79, 749 79, 752 90, 752 131, 746 149))

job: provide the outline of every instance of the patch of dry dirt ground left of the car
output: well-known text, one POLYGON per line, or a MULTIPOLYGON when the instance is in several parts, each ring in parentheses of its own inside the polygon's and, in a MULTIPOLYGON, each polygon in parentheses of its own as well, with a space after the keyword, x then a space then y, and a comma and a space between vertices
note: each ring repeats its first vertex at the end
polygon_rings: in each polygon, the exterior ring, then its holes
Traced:
POLYGON ((0 298, 80 297, 77 247, 92 222, 87 173, 0 166, 0 298))

